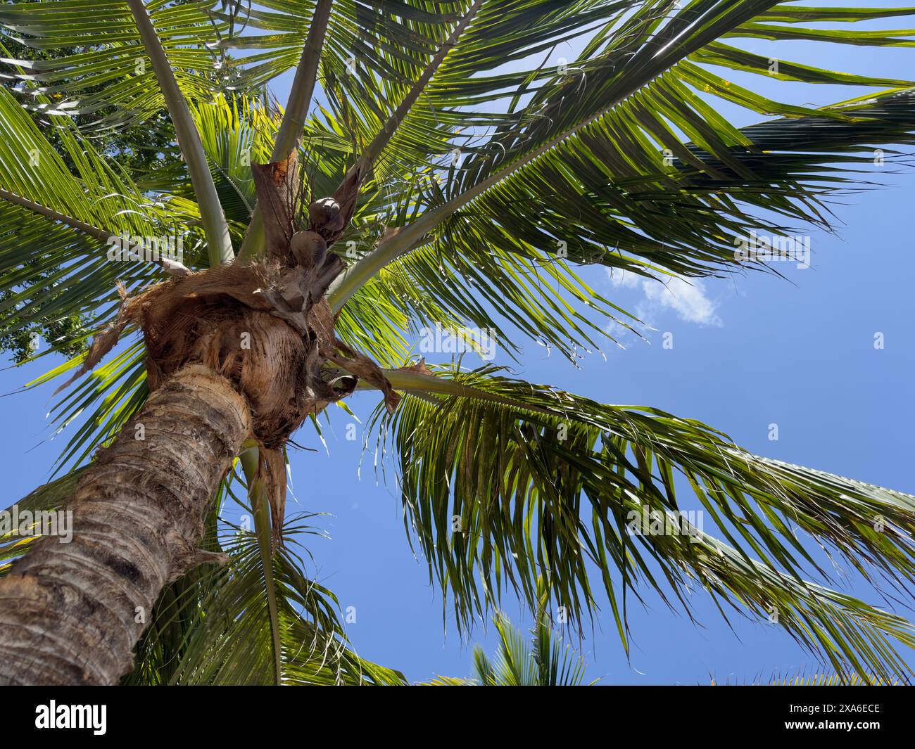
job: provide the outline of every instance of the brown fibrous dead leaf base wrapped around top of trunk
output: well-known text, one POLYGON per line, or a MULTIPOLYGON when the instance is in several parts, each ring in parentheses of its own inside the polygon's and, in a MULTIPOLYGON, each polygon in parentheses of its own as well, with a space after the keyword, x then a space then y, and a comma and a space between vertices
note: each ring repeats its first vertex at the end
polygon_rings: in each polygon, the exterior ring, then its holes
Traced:
MULTIPOLYGON (((267 487, 277 543, 289 436, 310 414, 350 395, 358 379, 381 390, 389 410, 399 400, 382 370, 335 336, 324 299, 344 268, 328 246, 349 223, 355 198, 340 194, 312 202, 307 228, 298 228, 295 166, 294 159, 253 166, 267 240, 263 260, 190 273, 125 298, 73 378, 92 369, 124 327, 135 324, 145 339, 150 391, 189 364, 229 380, 251 409, 252 437, 261 448, 258 477, 267 487)), ((340 190, 357 187, 347 180, 340 190)))

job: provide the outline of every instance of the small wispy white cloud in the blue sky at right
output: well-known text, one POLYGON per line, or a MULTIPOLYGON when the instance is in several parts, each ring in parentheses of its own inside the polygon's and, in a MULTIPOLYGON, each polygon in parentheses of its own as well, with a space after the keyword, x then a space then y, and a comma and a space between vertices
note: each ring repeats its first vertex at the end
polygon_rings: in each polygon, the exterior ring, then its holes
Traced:
POLYGON ((641 286, 645 298, 636 308, 635 314, 648 325, 652 325, 654 318, 666 310, 673 310, 681 320, 688 323, 716 327, 722 325, 721 318, 716 313, 716 304, 705 295, 705 284, 701 279, 687 280, 673 276, 662 283, 644 278, 638 273, 609 268, 607 274, 615 288, 634 289, 641 286))

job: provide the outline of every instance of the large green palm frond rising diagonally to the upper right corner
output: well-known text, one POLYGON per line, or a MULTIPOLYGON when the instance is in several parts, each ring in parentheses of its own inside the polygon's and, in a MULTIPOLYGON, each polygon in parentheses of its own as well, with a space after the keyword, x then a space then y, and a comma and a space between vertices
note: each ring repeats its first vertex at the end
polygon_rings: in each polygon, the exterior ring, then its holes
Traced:
MULTIPOLYGON (((378 267, 429 241, 473 260, 491 244, 522 252, 533 245, 575 262, 636 273, 644 274, 648 263, 662 272, 704 275, 739 267, 734 241, 749 230, 788 230, 754 209, 825 225, 823 183, 839 181, 830 165, 845 160, 832 158, 836 152, 863 156, 875 144, 910 143, 911 94, 890 102, 888 119, 883 105, 911 83, 818 69, 802 75, 802 68, 788 63, 785 80, 894 87, 876 102, 812 108, 776 102, 722 78, 716 70, 728 56, 730 67, 768 72, 760 70, 759 59, 740 62, 716 40, 746 33, 751 19, 773 6, 790 9, 773 2, 696 2, 676 11, 672 3, 649 2, 623 19, 608 16, 568 70, 554 70, 510 122, 468 149, 460 168, 442 167, 444 184, 421 218, 351 268, 332 291, 334 304, 342 304, 378 267), (716 97, 748 112, 798 121, 796 132, 810 136, 820 156, 798 158, 786 173, 782 155, 729 123, 716 97), (862 129, 849 141, 817 143, 824 120, 860 122, 862 129), (456 221, 485 244, 454 242, 456 221)), ((888 15, 911 14, 900 9, 888 15)), ((891 32, 884 36, 895 38, 891 32)), ((882 38, 878 32, 835 32, 835 40, 858 37, 882 38)), ((780 59, 777 50, 772 54, 780 59)))

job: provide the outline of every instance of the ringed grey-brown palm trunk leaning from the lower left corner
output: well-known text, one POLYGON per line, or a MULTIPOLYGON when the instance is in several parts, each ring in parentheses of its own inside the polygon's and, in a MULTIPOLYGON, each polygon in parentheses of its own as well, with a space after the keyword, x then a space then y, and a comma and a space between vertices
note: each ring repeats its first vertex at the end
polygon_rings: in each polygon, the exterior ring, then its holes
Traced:
POLYGON ((67 502, 70 543, 37 540, 0 579, 0 684, 116 684, 131 669, 163 586, 219 561, 197 544, 250 432, 246 401, 205 367, 149 396, 67 502))

